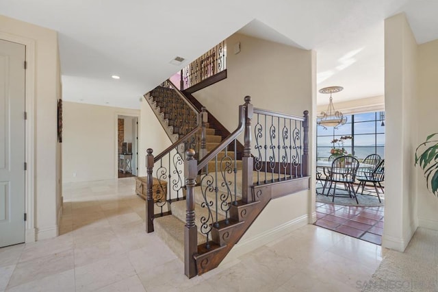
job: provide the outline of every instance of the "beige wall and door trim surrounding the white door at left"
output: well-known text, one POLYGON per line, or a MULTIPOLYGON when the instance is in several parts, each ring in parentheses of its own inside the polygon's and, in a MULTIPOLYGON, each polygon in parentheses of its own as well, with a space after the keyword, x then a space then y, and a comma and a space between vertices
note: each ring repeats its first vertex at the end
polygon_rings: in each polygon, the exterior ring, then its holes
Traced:
POLYGON ((57 143, 57 99, 60 60, 57 32, 0 16, 0 35, 26 45, 27 195, 26 241, 57 235, 60 207, 60 155, 57 143), (33 237, 33 239, 32 239, 33 237))

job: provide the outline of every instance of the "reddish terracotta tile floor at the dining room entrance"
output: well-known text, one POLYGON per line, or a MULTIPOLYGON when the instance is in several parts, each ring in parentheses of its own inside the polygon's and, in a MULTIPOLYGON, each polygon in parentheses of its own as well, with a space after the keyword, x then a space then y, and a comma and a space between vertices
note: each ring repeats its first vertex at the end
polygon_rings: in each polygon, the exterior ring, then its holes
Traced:
POLYGON ((384 207, 358 207, 316 202, 316 226, 381 245, 384 207))

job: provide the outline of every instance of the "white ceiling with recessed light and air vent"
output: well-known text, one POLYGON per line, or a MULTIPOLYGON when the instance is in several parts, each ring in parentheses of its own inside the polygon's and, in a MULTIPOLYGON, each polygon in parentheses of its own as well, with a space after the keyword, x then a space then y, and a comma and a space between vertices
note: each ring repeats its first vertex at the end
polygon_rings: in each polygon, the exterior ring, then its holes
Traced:
POLYGON ((0 14, 59 32, 64 100, 124 108, 240 29, 317 51, 317 88, 344 86, 336 101, 383 95, 384 19, 406 13, 421 44, 438 38, 437 11, 436 0, 0 1, 0 14))

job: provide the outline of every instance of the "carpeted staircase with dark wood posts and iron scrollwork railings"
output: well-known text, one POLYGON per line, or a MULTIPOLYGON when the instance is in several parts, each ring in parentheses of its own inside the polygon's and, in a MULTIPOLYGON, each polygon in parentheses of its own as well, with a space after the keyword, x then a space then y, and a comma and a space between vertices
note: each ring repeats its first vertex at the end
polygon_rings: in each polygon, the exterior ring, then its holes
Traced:
MULTIPOLYGON (((157 89, 157 88, 156 88, 157 89)), ((308 121, 305 117, 253 108, 250 97, 240 106, 240 123, 222 137, 188 101, 174 99, 176 88, 145 95, 175 143, 157 156, 148 149, 146 231, 157 232, 185 263, 189 278, 216 268, 244 235, 270 199, 309 188, 307 176, 308 121), (179 106, 175 106, 179 105, 179 106), (189 119, 168 108, 181 109, 189 119), (257 115, 257 119, 254 119, 257 115), (175 120, 172 120, 175 119, 175 120), (196 126, 190 127, 196 120, 196 126), (255 141, 251 139, 254 120, 255 141), (257 122, 257 123, 256 123, 257 122), (270 123, 270 127, 266 124, 270 123), (237 159, 237 137, 244 134, 242 159, 237 159), (254 145, 251 145, 255 142, 254 145), (152 177, 162 193, 153 200, 152 177), (166 191, 164 191, 166 190, 166 191)), ((177 93, 181 97, 181 93, 177 93)))

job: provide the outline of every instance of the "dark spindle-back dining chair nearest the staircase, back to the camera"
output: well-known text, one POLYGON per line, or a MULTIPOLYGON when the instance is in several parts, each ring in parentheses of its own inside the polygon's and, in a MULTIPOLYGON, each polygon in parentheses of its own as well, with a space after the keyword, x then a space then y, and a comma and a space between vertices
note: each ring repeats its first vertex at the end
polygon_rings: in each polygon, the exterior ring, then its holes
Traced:
POLYGON ((356 199, 356 203, 359 204, 355 188, 353 187, 356 179, 357 169, 359 169, 359 160, 352 156, 341 156, 333 160, 329 177, 327 178, 327 182, 329 183, 329 191, 327 191, 327 196, 330 194, 333 182, 335 183, 335 187, 333 188, 332 202, 335 202, 335 195, 342 195, 336 194, 337 183, 342 183, 346 187, 346 191, 348 191, 347 195, 354 197, 356 199))

